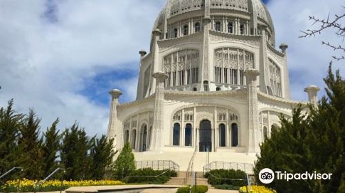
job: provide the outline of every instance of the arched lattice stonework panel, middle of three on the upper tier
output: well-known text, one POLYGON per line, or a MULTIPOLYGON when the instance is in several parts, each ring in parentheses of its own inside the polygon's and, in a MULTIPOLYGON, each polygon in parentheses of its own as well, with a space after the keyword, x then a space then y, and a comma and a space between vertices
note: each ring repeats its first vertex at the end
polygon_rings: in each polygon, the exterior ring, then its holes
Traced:
POLYGON ((246 85, 244 71, 254 68, 254 54, 242 49, 219 48, 215 50, 214 81, 230 85, 246 85))

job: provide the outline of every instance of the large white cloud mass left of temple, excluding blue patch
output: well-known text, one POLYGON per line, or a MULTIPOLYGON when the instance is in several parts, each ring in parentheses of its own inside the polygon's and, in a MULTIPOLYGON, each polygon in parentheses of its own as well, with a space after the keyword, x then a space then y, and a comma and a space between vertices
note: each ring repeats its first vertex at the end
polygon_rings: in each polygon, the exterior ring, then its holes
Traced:
MULTIPOLYGON (((61 129, 77 120, 89 134, 105 134, 108 105, 90 101, 81 90, 105 70, 139 68, 138 51, 148 49, 164 3, 0 1, 0 105, 14 98, 19 112, 34 108, 43 130, 60 117, 61 129)), ((135 99, 136 80, 118 78, 113 86, 135 99)))

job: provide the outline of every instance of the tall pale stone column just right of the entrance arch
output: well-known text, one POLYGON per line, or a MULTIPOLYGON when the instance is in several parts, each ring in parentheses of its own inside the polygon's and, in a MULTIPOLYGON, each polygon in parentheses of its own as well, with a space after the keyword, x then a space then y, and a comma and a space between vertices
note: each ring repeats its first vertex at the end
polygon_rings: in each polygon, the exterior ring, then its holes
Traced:
POLYGON ((248 153, 259 152, 259 110, 257 109, 257 76, 259 71, 246 70, 248 90, 248 153))

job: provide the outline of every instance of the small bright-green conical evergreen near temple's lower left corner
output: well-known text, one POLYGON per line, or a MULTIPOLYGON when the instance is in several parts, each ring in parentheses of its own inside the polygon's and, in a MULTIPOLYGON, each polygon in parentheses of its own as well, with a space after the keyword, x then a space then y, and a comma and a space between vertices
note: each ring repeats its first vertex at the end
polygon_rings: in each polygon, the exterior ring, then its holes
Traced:
POLYGON ((115 161, 115 176, 117 179, 124 179, 135 170, 135 157, 132 153, 130 143, 126 143, 115 161))

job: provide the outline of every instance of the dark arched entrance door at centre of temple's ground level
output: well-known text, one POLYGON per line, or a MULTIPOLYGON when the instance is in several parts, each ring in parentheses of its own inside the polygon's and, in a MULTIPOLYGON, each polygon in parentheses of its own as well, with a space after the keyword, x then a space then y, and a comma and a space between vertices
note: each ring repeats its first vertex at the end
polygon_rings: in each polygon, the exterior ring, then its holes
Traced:
POLYGON ((199 129, 199 152, 212 151, 212 129, 211 122, 201 121, 199 129))

